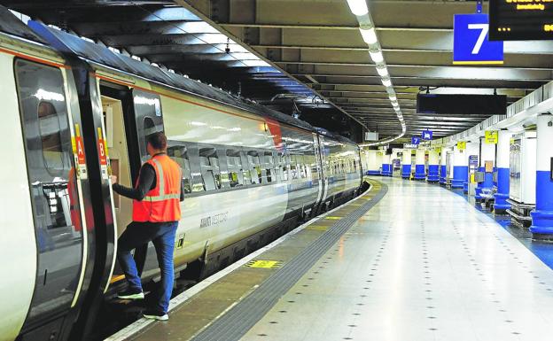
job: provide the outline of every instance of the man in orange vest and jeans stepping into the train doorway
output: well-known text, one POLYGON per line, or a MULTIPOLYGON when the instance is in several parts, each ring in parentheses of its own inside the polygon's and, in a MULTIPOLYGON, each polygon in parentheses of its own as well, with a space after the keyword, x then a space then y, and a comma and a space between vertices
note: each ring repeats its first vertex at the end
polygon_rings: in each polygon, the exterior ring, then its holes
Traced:
POLYGON ((133 221, 119 237, 117 259, 129 283, 127 291, 118 298, 142 299, 142 283, 136 263, 130 251, 152 241, 161 270, 160 288, 155 306, 144 311, 144 317, 166 321, 167 309, 173 291, 173 251, 178 221, 181 219, 183 201, 182 171, 178 164, 167 156, 167 137, 162 132, 146 136, 148 154, 152 157, 140 168, 135 188, 116 183, 112 176, 113 190, 123 197, 133 199, 133 221))

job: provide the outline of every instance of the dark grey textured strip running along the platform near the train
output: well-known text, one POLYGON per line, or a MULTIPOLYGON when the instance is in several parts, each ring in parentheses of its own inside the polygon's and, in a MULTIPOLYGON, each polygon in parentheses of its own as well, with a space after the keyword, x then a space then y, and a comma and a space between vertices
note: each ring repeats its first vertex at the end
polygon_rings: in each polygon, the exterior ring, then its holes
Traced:
POLYGON ((322 236, 308 245, 300 254, 280 268, 273 275, 261 283, 259 288, 249 296, 233 306, 229 312, 202 330, 193 341, 225 340, 238 341, 252 329, 261 318, 277 303, 278 299, 297 283, 301 276, 313 267, 317 260, 323 257, 340 236, 351 228, 355 221, 384 198, 388 190, 384 183, 380 183, 378 194, 368 203, 357 208, 353 213, 331 226, 322 236))

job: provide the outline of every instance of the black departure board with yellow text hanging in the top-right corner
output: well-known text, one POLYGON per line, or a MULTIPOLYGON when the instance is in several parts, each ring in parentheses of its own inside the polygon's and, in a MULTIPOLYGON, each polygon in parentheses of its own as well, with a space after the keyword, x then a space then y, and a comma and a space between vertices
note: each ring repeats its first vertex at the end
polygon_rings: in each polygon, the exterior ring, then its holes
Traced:
POLYGON ((553 0, 490 0, 490 40, 553 39, 553 0))

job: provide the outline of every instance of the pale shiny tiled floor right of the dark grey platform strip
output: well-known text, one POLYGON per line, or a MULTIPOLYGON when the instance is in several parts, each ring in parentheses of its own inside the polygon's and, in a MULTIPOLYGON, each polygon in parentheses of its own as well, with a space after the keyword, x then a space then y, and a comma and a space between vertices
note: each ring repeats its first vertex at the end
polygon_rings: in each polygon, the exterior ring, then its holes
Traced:
POLYGON ((553 271, 455 193, 386 182, 245 340, 543 340, 553 271))

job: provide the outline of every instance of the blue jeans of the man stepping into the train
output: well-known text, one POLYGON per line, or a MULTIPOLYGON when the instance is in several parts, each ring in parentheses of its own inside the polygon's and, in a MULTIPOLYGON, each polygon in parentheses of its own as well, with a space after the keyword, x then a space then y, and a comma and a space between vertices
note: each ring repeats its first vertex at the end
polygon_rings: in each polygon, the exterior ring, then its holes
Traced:
POLYGON ((152 223, 136 222, 129 224, 119 237, 117 259, 129 283, 129 290, 142 291, 142 283, 136 270, 136 263, 130 251, 136 247, 152 242, 158 255, 161 281, 157 293, 156 305, 152 308, 160 313, 167 313, 175 272, 173 267, 173 251, 175 249, 175 233, 178 221, 152 223))

